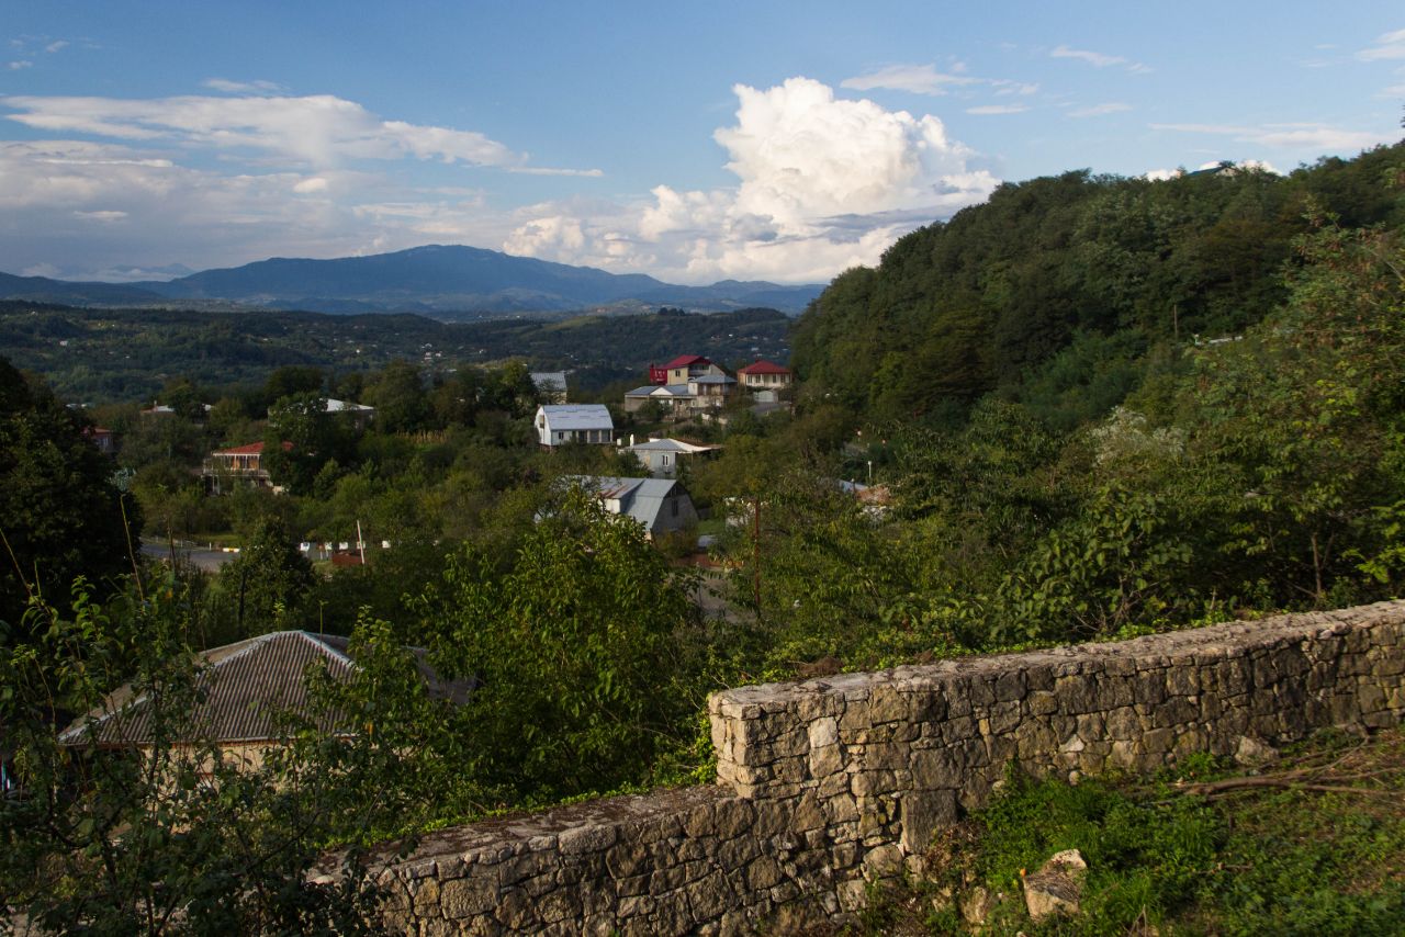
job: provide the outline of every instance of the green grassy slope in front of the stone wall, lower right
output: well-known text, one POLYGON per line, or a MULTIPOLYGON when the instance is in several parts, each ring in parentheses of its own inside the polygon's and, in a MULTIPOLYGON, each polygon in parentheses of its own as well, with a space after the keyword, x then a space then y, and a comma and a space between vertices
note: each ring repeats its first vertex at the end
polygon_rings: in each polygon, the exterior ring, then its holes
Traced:
POLYGON ((1262 770, 1189 759, 1156 777, 1012 775, 939 836, 920 881, 880 892, 853 934, 1405 934, 1405 730, 1333 732, 1262 770), (1076 917, 1038 924, 1021 875, 1051 854, 1087 861, 1076 917))

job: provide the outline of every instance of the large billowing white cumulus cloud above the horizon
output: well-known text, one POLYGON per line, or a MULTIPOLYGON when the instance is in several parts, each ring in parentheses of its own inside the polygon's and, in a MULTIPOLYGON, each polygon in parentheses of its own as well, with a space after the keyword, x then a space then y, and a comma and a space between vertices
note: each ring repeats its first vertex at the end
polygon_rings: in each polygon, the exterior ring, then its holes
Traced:
POLYGON ((607 212, 541 205, 504 250, 687 282, 828 280, 998 184, 936 117, 836 98, 804 77, 733 93, 736 121, 712 136, 735 188, 656 185, 651 201, 607 212))

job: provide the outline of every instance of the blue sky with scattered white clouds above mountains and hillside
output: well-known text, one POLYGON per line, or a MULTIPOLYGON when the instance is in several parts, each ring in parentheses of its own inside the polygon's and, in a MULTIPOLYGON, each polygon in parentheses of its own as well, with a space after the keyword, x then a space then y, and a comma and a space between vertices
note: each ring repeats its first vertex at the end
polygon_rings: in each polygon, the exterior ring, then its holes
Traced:
POLYGON ((1402 104, 1398 0, 0 0, 0 270, 464 243, 823 281, 1000 181, 1288 171, 1402 104))

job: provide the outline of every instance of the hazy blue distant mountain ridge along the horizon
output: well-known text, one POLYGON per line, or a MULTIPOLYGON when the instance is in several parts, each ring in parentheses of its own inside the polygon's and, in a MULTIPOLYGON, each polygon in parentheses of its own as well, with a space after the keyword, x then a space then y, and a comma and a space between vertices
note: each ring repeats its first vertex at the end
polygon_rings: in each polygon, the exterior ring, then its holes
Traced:
POLYGON ((334 260, 274 257, 169 282, 66 282, 0 274, 0 298, 8 299, 70 305, 214 301, 333 313, 561 312, 610 305, 677 305, 710 310, 770 306, 799 312, 822 289, 823 284, 783 287, 736 280, 680 287, 645 274, 611 274, 458 244, 334 260))

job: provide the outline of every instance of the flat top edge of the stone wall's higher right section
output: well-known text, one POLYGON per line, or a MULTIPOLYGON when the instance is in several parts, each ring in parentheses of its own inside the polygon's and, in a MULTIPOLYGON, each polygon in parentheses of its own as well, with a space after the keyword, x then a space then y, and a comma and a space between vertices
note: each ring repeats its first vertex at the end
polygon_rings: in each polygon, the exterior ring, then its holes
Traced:
POLYGON ((813 677, 798 683, 763 683, 722 690, 712 695, 714 712, 722 705, 759 705, 780 711, 815 695, 853 695, 856 690, 891 686, 898 690, 934 688, 958 679, 995 677, 1010 670, 1103 660, 1142 660, 1146 666, 1165 664, 1165 657, 1196 652, 1242 652, 1316 636, 1324 628, 1373 628, 1405 624, 1405 600, 1383 601, 1333 611, 1273 615, 1252 621, 1227 621, 1186 631, 1168 631, 1117 642, 1064 645, 1006 655, 953 657, 930 664, 908 664, 889 670, 844 673, 813 677))

